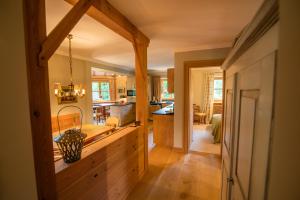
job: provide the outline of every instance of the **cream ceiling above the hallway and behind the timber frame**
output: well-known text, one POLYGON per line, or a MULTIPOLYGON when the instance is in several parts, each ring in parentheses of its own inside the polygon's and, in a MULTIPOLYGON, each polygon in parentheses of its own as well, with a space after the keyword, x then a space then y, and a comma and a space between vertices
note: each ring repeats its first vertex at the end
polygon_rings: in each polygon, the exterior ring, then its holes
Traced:
MULTIPOLYGON (((148 68, 173 67, 174 52, 229 47, 263 0, 108 0, 150 38, 148 68)), ((46 0, 49 33, 72 6, 46 0)), ((134 68, 131 43, 85 15, 71 31, 74 57, 134 68)), ((65 40, 57 53, 67 54, 65 40)))

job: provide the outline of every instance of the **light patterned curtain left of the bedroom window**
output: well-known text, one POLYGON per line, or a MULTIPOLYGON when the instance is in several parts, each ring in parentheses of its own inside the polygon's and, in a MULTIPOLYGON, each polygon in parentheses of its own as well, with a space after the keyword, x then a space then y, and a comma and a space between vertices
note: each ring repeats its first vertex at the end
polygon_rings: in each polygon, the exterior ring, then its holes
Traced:
POLYGON ((206 113, 206 123, 212 117, 214 103, 214 73, 206 72, 204 74, 204 112, 206 113))

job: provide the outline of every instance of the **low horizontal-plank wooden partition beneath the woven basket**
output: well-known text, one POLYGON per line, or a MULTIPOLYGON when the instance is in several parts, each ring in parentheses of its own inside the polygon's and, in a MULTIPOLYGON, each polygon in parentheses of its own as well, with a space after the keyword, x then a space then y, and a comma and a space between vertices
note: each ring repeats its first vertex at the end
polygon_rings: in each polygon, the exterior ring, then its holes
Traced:
POLYGON ((144 174, 143 130, 128 127, 83 149, 81 160, 55 163, 58 199, 126 199, 144 174))

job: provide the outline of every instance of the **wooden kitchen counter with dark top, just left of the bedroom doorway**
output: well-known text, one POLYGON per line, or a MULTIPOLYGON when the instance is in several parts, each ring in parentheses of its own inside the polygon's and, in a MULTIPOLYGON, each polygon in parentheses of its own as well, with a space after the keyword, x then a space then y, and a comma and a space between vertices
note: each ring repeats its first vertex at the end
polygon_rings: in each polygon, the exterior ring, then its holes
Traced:
POLYGON ((174 109, 173 104, 157 110, 153 114, 153 137, 158 146, 173 147, 174 109))

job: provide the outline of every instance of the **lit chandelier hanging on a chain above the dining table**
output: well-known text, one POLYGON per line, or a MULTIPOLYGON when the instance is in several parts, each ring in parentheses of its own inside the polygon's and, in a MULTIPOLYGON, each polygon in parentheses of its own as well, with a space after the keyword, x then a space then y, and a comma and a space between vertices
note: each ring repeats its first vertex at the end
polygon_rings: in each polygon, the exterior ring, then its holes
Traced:
POLYGON ((73 67, 72 67, 72 49, 71 49, 71 40, 73 36, 69 34, 67 36, 69 39, 69 64, 70 64, 70 84, 61 85, 57 83, 55 85, 54 94, 57 97, 58 104, 65 103, 76 103, 78 97, 83 97, 85 95, 85 89, 80 85, 73 84, 73 67))

